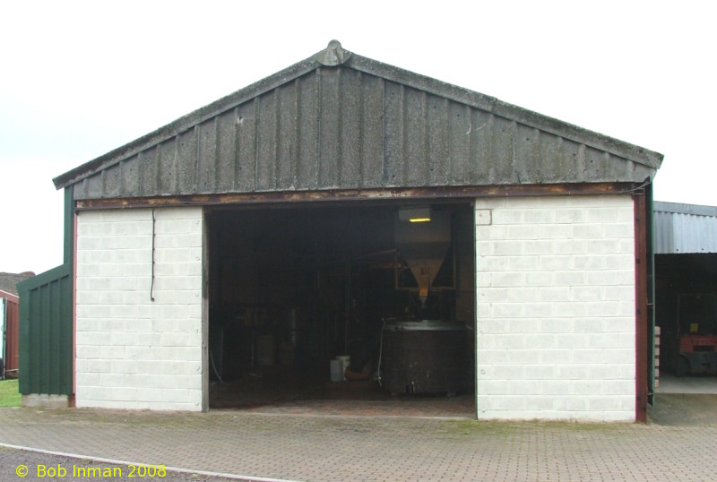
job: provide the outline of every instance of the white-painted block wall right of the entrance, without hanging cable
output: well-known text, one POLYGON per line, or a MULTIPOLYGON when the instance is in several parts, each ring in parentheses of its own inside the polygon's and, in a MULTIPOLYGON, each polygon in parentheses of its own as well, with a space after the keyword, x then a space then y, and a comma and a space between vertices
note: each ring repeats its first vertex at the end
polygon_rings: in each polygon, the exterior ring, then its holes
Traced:
POLYGON ((479 418, 635 419, 629 195, 476 201, 479 418))

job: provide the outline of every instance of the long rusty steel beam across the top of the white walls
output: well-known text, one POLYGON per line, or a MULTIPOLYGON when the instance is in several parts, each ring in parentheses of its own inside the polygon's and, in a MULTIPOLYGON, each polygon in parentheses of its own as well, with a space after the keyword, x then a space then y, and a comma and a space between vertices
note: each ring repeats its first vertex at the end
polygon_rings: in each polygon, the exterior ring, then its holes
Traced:
POLYGON ((344 189, 324 191, 279 191, 267 193, 190 194, 140 198, 85 199, 75 201, 76 210, 157 208, 170 206, 216 206, 273 202, 326 202, 371 200, 448 200, 477 197, 627 194, 641 185, 634 183, 585 183, 555 185, 467 185, 344 189))

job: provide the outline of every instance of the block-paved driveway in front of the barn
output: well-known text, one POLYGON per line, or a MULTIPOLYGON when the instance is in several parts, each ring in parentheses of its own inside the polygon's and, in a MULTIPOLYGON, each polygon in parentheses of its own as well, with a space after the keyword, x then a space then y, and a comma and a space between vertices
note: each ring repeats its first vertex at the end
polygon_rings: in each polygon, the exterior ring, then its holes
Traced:
POLYGON ((0 409, 0 443, 289 480, 714 480, 715 420, 651 416, 637 425, 0 409))

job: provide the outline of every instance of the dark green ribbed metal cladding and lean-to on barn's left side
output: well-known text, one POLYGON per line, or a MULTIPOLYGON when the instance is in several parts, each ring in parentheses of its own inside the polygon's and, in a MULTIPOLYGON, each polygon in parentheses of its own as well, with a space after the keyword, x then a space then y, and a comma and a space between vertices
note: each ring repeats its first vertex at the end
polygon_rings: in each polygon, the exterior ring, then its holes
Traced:
POLYGON ((62 265, 18 284, 22 395, 73 396, 73 187, 65 187, 62 265))

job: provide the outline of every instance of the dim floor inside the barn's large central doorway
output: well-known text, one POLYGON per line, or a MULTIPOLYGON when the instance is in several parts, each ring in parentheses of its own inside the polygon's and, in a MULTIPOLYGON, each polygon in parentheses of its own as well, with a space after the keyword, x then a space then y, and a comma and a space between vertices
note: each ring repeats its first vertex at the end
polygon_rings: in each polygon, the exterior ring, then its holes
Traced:
POLYGON ((263 367, 227 383, 210 383, 211 409, 262 413, 475 417, 473 393, 391 395, 375 381, 331 382, 317 372, 263 367))

